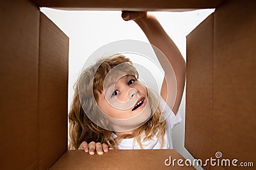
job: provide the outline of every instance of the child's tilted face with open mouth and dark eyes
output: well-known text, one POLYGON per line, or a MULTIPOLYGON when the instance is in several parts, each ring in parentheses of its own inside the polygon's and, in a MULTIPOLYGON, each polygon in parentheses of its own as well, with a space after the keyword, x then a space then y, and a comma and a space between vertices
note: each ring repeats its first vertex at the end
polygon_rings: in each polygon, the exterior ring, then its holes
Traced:
MULTIPOLYGON (((151 111, 147 104, 147 90, 134 76, 124 75, 113 78, 110 82, 104 85, 104 92, 99 94, 98 105, 103 113, 112 118, 127 120, 140 115, 145 110, 151 111)), ((148 116, 144 117, 142 119, 148 118, 148 116)), ((140 120, 143 121, 145 120, 140 120)))

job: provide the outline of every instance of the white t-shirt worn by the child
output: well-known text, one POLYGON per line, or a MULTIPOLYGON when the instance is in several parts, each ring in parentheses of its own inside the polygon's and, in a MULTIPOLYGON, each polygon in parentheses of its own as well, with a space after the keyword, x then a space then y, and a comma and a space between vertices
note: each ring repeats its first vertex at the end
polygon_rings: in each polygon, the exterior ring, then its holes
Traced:
MULTIPOLYGON (((173 149, 172 145, 172 129, 175 125, 180 124, 181 117, 179 111, 176 115, 174 115, 171 108, 164 102, 163 98, 160 97, 159 104, 161 110, 163 110, 164 117, 166 117, 166 128, 164 134, 164 143, 163 149, 173 149), (164 108, 164 109, 163 109, 164 108)), ((113 138, 116 138, 116 134, 112 133, 113 138)), ((144 136, 141 137, 141 145, 144 149, 160 149, 161 141, 157 139, 155 135, 152 140, 143 141, 144 136)), ((120 150, 132 150, 132 149, 141 149, 140 145, 137 143, 136 139, 122 139, 120 143, 118 143, 118 149, 120 150)))

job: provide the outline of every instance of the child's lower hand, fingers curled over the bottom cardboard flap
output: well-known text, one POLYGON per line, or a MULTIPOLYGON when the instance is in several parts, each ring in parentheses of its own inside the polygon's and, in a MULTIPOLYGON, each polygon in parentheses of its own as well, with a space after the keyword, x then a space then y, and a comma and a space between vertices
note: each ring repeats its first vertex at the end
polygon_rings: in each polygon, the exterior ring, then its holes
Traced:
POLYGON ((108 152, 109 150, 113 150, 113 148, 109 148, 106 143, 95 143, 94 141, 89 144, 86 141, 83 141, 78 148, 79 150, 84 150, 84 152, 89 152, 90 155, 93 155, 96 152, 98 155, 102 155, 104 152, 108 152))

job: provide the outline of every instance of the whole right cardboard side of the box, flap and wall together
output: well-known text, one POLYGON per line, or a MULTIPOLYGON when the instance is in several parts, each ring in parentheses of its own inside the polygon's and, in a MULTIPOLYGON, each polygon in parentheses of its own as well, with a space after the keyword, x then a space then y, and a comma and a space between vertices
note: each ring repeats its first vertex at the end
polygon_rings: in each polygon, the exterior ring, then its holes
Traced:
POLYGON ((255 7, 226 1, 187 37, 185 146, 196 159, 255 162, 255 7))

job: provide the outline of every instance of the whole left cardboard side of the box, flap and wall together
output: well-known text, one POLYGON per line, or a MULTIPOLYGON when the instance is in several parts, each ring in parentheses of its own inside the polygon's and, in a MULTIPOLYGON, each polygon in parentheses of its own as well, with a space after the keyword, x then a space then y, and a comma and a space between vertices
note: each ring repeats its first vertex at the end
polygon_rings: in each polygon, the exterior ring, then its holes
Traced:
POLYGON ((68 38, 35 4, 10 2, 0 15, 0 169, 47 169, 67 150, 68 38))

